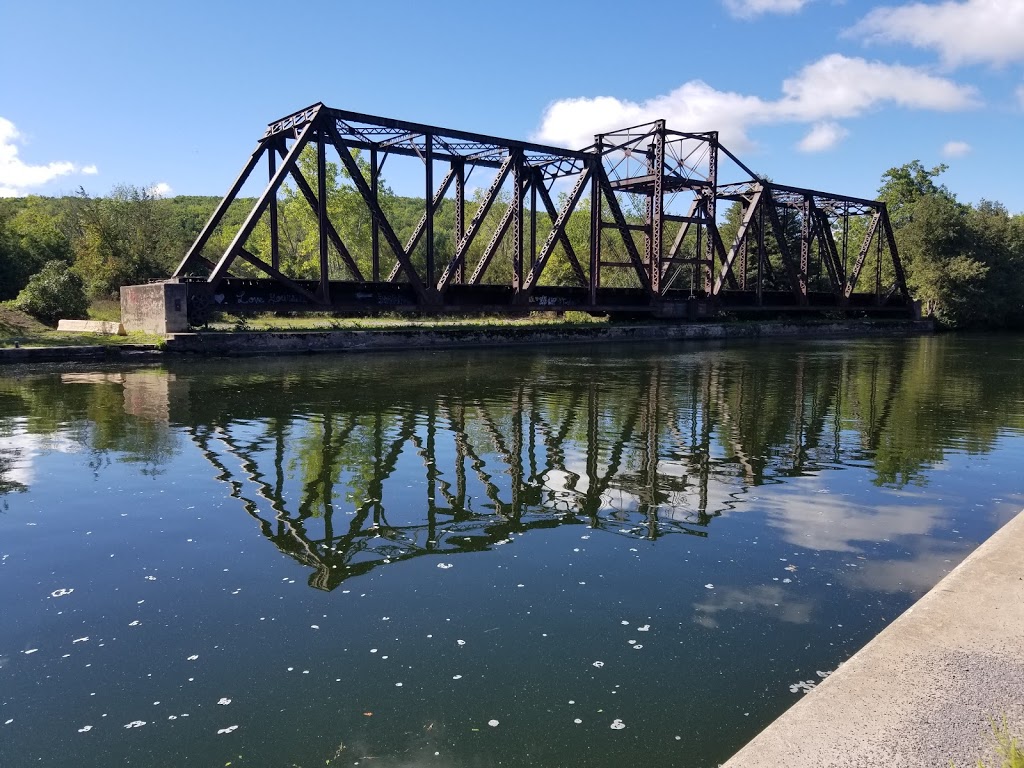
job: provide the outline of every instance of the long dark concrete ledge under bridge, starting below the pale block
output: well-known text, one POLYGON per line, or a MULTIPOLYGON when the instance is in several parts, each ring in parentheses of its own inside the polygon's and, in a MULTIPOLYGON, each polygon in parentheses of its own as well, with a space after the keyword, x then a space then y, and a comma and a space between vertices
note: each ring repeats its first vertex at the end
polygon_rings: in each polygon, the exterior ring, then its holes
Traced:
POLYGON ((373 331, 270 331, 169 334, 167 350, 191 354, 251 355, 308 354, 402 349, 504 347, 519 344, 593 344, 603 342, 756 339, 854 338, 931 333, 930 321, 887 323, 645 324, 637 326, 579 326, 516 328, 500 326, 459 329, 373 331))

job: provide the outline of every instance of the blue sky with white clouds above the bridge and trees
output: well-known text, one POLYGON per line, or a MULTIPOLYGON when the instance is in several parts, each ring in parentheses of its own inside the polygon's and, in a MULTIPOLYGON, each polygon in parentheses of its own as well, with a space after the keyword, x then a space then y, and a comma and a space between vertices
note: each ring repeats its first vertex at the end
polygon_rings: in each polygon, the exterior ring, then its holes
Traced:
POLYGON ((572 147, 664 118, 780 183, 874 197, 920 160, 1024 212, 1024 0, 3 0, 0 19, 0 197, 219 197, 268 123, 323 101, 572 147))

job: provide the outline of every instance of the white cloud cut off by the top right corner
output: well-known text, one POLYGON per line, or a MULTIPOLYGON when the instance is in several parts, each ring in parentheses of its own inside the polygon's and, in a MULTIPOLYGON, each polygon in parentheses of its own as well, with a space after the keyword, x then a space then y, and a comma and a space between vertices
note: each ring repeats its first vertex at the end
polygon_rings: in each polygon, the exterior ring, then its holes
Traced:
POLYGON ((1024 60, 1024 3, 962 0, 876 8, 848 32, 939 52, 948 65, 1024 60))

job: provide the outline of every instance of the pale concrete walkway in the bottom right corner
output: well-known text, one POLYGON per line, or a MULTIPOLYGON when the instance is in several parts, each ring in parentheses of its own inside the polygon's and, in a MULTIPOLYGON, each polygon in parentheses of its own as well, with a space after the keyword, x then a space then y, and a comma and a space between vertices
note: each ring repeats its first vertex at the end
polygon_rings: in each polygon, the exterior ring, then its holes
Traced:
POLYGON ((725 764, 997 767, 1024 736, 1024 513, 725 764))

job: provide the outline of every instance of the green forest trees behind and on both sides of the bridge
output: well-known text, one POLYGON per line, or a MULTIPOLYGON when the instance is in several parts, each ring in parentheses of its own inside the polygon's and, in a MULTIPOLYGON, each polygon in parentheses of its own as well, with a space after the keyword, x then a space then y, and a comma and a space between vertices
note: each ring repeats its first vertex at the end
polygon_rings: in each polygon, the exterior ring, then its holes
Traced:
MULTIPOLYGON (((359 157, 356 161, 366 172, 365 161, 359 157)), ((300 166, 307 179, 316 178, 314 157, 301 158, 300 166)), ((959 202, 941 181, 945 170, 942 165, 927 168, 912 161, 889 169, 880 181, 878 197, 888 204, 911 294, 922 302, 926 314, 946 328, 1022 329, 1024 214, 1012 215, 996 202, 959 202)), ((357 268, 370 279, 369 213, 343 169, 329 163, 326 176, 331 219, 338 222, 357 268)), ((481 195, 482 190, 468 201, 467 219, 481 195)), ((397 196, 387 184, 381 185, 380 196, 398 238, 404 240, 423 213, 423 199, 397 196)), ((55 322, 58 315, 84 316, 90 302, 116 298, 123 285, 171 274, 217 202, 213 197, 161 198, 130 184, 116 186, 103 196, 79 189, 77 195, 60 198, 0 199, 0 301, 47 323, 55 322), (40 299, 42 295, 49 297, 48 306, 47 300, 40 299)), ((240 199, 232 204, 205 253, 219 255, 224 251, 252 203, 251 199, 240 199)), ((503 206, 508 204, 508 200, 500 201, 490 209, 474 242, 477 253, 470 253, 467 263, 478 261, 479 252, 498 226, 503 206)), ((279 210, 282 271, 294 278, 315 276, 319 257, 312 210, 301 191, 288 185, 280 195, 279 210)), ((586 210, 586 205, 580 206, 566 227, 584 263, 590 237, 586 210)), ((626 214, 640 220, 639 210, 631 212, 627 207, 626 214)), ((725 242, 731 242, 739 216, 738 204, 725 210, 720 221, 725 242)), ((247 246, 264 257, 269 251, 265 218, 247 246)), ((443 236, 455 227, 451 200, 443 201, 435 219, 435 253, 438 262, 444 263, 452 240, 443 236)), ((539 230, 536 237, 540 241, 546 234, 539 230)), ((507 243, 503 248, 508 248, 507 243)), ((414 261, 422 258, 423 251, 421 243, 413 253, 414 261)), ((351 279, 350 267, 337 254, 333 258, 331 278, 351 279)), ((770 258, 777 259, 778 254, 770 258)), ((507 282, 510 263, 499 252, 485 282, 507 282)), ((240 273, 245 273, 245 267, 240 273)), ((623 285, 630 285, 629 270, 623 270, 622 280, 623 285)), ((546 267, 543 282, 572 282, 572 266, 561 247, 546 267)), ((602 282, 615 285, 614 276, 608 281, 602 275, 602 282)))

